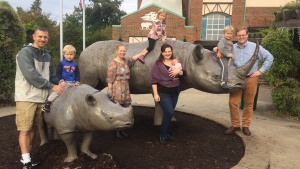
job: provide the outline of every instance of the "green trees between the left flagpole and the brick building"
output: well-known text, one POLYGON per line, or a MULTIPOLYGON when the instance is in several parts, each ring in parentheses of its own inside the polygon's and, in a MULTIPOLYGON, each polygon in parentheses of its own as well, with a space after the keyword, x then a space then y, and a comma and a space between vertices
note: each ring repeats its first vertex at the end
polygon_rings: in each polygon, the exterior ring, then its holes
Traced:
MULTIPOLYGON (((86 7, 86 45, 111 39, 111 25, 120 24, 120 10, 123 0, 92 0, 86 7)), ((75 46, 77 53, 82 51, 82 10, 74 7, 72 14, 67 14, 64 22, 64 44, 75 46)), ((79 55, 77 55, 79 56, 79 55)))

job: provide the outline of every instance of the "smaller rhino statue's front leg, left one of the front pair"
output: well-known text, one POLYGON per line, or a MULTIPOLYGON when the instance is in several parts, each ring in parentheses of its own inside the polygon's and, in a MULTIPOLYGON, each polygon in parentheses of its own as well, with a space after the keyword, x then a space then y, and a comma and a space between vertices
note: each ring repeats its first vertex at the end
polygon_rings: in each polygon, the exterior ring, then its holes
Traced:
POLYGON ((75 133, 62 134, 61 139, 64 141, 67 150, 68 156, 64 162, 72 162, 77 158, 76 142, 75 142, 75 133))

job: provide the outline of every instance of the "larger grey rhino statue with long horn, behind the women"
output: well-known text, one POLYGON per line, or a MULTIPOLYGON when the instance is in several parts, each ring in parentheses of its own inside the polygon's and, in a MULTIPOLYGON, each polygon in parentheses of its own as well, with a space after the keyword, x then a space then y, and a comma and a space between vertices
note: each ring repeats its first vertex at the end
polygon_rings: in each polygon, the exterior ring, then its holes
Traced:
MULTIPOLYGON (((259 49, 257 44, 252 58, 246 65, 238 68, 233 65, 229 66, 228 85, 230 89, 223 89, 220 87, 221 67, 212 56, 211 51, 204 49, 200 44, 196 45, 170 39, 166 43, 173 47, 174 56, 178 58, 185 70, 180 81, 181 90, 195 88, 215 94, 229 93, 245 87, 246 75, 255 63, 259 49)), ((125 57, 132 57, 148 46, 148 42, 124 43, 115 40, 95 42, 80 54, 81 83, 89 84, 99 90, 105 88, 107 86, 107 66, 116 56, 115 50, 120 44, 126 46, 127 53, 125 57)), ((160 55, 161 45, 162 42, 157 41, 154 49, 145 57, 145 64, 136 61, 131 68, 129 86, 132 94, 152 92, 149 83, 151 68, 160 55)), ((158 108, 158 106, 158 104, 155 104, 154 124, 160 124, 161 122, 162 113, 161 108, 158 108)))

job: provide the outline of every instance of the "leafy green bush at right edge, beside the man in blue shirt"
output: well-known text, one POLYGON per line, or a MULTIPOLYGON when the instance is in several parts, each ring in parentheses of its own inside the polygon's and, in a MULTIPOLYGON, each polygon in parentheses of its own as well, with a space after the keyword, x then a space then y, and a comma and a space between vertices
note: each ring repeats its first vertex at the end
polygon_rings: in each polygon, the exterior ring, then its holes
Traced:
POLYGON ((269 30, 262 45, 274 56, 265 77, 274 85, 273 105, 281 115, 300 117, 300 52, 285 29, 269 30))

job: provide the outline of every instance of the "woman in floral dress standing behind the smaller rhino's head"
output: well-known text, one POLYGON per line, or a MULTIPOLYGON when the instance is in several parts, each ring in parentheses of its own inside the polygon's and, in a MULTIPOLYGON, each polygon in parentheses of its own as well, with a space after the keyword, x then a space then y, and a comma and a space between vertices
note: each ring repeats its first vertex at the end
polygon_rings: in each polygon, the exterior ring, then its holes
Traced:
MULTIPOLYGON (((129 78, 130 67, 133 66, 134 61, 138 59, 141 53, 125 58, 126 47, 124 45, 117 46, 116 57, 110 62, 107 68, 107 86, 108 97, 115 103, 119 103, 123 107, 128 107, 131 104, 129 78)), ((117 138, 128 137, 124 131, 116 131, 117 138)))

